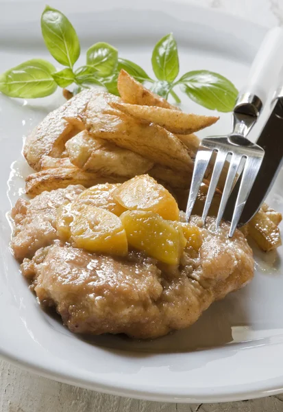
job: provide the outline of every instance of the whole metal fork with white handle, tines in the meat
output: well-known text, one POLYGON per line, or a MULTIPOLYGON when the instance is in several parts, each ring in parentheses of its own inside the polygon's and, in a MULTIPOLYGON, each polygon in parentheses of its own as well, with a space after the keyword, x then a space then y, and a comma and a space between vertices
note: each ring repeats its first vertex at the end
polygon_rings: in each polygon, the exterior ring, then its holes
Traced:
POLYGON ((262 111, 262 106, 267 100, 269 89, 274 79, 277 78, 276 75, 280 69, 278 56, 280 56, 283 49, 282 33, 282 29, 276 27, 269 30, 264 37, 264 41, 249 71, 247 86, 238 95, 233 111, 232 132, 226 136, 206 137, 201 141, 195 157, 195 167, 186 207, 187 222, 193 211, 199 187, 204 179, 212 153, 216 152, 216 159, 202 214, 204 222, 208 216, 223 166, 228 155, 230 155, 230 165, 219 205, 216 227, 218 228, 220 225, 228 198, 237 178, 237 172, 238 175, 242 172, 241 185, 238 190, 229 232, 229 237, 233 236, 264 157, 264 150, 260 146, 251 143, 246 136, 256 123, 262 111))

